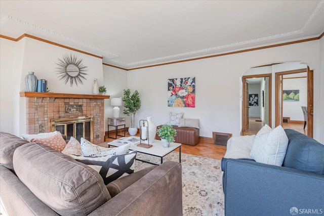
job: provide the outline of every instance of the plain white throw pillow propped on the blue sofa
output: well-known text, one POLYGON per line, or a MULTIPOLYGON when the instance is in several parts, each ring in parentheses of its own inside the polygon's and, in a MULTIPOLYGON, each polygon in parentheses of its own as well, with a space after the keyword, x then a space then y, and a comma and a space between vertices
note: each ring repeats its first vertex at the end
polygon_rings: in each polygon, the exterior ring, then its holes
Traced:
POLYGON ((260 163, 281 166, 288 147, 288 137, 281 125, 273 130, 269 128, 265 125, 256 135, 251 157, 260 163))

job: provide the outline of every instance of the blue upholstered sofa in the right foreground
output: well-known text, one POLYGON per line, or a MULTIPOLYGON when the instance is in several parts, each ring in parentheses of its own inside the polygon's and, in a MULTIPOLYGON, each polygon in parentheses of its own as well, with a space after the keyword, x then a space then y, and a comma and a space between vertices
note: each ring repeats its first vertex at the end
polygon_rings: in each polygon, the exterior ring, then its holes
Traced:
POLYGON ((292 129, 282 166, 223 158, 225 215, 324 215, 324 145, 292 129))

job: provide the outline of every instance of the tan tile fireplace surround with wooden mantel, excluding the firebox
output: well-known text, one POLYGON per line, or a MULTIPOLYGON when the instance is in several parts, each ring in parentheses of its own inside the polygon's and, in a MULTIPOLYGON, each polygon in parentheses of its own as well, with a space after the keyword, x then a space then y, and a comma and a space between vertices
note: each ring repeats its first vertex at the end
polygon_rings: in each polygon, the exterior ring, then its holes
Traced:
POLYGON ((93 143, 104 142, 104 95, 79 95, 59 93, 21 92, 26 97, 26 133, 38 134, 52 131, 52 118, 93 116, 93 143), (82 105, 82 113, 65 113, 65 105, 82 105))

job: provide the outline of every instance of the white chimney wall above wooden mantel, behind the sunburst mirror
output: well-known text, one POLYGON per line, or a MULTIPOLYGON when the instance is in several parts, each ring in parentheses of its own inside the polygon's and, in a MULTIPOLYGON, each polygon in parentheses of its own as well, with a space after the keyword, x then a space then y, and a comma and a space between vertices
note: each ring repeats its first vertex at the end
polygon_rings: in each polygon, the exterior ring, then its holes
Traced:
POLYGON ((53 46, 46 42, 35 40, 32 38, 26 38, 25 53, 22 67, 21 85, 20 91, 26 91, 25 75, 28 71, 34 71, 38 79, 48 80, 48 89, 50 92, 55 93, 70 93, 70 94, 88 94, 92 95, 93 81, 98 79, 99 86, 103 84, 103 69, 102 59, 96 58, 83 53, 75 52, 58 46, 53 46), (87 66, 88 75, 85 75, 86 80, 83 80, 83 84, 75 83, 70 86, 70 83, 64 84, 63 80, 59 80, 57 74, 58 67, 56 63, 59 63, 58 59, 63 58, 63 55, 70 56, 72 54, 76 56, 77 60, 82 59, 82 63, 87 66))

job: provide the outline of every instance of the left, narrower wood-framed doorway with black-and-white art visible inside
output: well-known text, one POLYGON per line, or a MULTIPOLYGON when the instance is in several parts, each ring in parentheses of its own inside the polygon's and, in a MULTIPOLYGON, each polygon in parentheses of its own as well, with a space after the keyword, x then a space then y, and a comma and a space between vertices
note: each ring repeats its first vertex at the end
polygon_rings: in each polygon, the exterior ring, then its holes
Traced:
POLYGON ((265 124, 271 127, 271 76, 242 76, 242 136, 257 134, 265 124))

